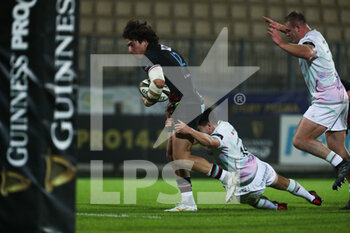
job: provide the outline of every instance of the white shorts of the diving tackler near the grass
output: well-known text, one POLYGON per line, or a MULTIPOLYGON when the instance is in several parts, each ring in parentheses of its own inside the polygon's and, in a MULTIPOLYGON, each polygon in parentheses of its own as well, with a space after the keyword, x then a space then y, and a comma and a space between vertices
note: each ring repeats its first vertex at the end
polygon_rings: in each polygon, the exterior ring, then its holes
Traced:
POLYGON ((236 199, 240 203, 250 204, 250 202, 259 199, 264 193, 266 186, 270 186, 276 179, 277 173, 270 164, 258 158, 256 158, 256 161, 258 170, 254 180, 246 186, 237 187, 235 190, 236 199))

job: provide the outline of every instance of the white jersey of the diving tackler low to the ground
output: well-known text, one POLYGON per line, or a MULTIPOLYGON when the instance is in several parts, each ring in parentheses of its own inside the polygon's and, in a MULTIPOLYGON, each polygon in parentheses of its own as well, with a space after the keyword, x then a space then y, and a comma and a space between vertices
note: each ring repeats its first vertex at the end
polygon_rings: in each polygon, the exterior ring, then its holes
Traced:
POLYGON ((217 160, 228 171, 237 171, 240 186, 249 184, 257 171, 256 157, 247 151, 235 128, 226 121, 219 121, 210 135, 220 141, 218 148, 210 148, 217 160))

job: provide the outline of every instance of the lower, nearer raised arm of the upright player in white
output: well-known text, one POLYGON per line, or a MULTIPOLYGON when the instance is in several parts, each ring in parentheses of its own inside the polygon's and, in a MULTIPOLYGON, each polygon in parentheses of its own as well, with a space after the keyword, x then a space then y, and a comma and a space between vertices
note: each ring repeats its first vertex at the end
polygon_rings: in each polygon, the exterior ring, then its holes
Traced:
POLYGON ((311 44, 292 44, 282 40, 281 36, 275 28, 269 27, 268 33, 271 35, 273 42, 278 45, 284 51, 292 54, 293 56, 303 58, 312 61, 316 57, 316 49, 311 44))

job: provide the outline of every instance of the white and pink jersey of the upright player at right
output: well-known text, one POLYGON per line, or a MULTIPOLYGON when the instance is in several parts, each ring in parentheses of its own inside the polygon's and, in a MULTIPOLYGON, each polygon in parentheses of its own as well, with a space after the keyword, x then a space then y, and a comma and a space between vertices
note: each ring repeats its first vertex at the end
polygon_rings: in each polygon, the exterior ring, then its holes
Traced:
POLYGON ((347 101, 347 95, 335 69, 332 53, 322 34, 313 29, 299 41, 315 47, 317 53, 312 61, 299 58, 299 65, 305 83, 314 103, 341 103, 347 101))

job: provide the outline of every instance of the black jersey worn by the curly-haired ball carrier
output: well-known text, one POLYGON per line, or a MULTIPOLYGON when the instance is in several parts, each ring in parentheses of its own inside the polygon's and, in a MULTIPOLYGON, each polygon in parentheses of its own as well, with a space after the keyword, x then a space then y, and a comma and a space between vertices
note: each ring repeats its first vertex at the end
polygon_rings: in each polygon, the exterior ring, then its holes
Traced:
MULTIPOLYGON (((170 102, 178 102, 181 100, 183 94, 180 90, 186 92, 186 102, 200 103, 200 96, 196 89, 193 87, 191 74, 188 70, 185 59, 172 48, 162 44, 149 44, 145 52, 145 56, 154 64, 160 65, 163 69, 165 76, 165 84, 170 89, 170 102), (167 66, 179 67, 174 72, 173 69, 167 70, 167 66), (167 74, 171 74, 172 80, 176 80, 174 83, 167 78, 167 74)), ((148 73, 152 66, 143 67, 143 70, 148 73)))

